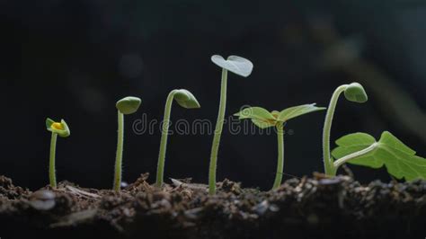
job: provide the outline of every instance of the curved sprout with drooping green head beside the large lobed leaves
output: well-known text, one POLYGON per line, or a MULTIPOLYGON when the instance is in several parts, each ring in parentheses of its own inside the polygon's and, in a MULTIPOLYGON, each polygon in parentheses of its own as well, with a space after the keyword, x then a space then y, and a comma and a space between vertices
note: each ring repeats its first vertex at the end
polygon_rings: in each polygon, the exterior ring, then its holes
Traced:
POLYGON ((328 106, 327 114, 325 115, 323 130, 324 173, 328 176, 335 176, 337 172, 337 168, 333 165, 333 157, 330 155, 330 131, 332 129, 333 115, 336 109, 337 100, 341 93, 344 93, 345 98, 350 102, 363 103, 368 100, 367 93, 359 83, 343 84, 334 91, 332 100, 328 106))

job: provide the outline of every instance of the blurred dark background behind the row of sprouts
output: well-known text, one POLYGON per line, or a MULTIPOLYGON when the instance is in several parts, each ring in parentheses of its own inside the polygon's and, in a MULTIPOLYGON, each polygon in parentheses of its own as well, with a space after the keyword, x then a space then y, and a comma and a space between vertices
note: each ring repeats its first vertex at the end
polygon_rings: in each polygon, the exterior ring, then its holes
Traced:
MULTIPOLYGON (((125 117, 125 181, 155 167, 160 142, 132 133, 134 120, 163 118, 171 90, 184 88, 200 110, 173 106, 172 120, 216 121, 220 69, 210 56, 253 61, 253 74, 230 74, 227 115, 244 104, 270 110, 317 102, 326 106, 340 84, 358 81, 365 104, 341 98, 333 140, 351 132, 389 130, 426 155, 426 4, 422 1, 0 1, 0 174, 15 184, 48 183, 46 117, 65 119, 58 138, 58 180, 109 188, 116 150, 115 102, 142 98, 125 117)), ((324 112, 288 122, 285 173, 323 171, 324 112)), ((165 176, 207 182, 212 136, 169 137, 165 176)), ((276 137, 225 130, 219 180, 268 189, 276 137)), ((391 178, 386 170, 350 165, 359 181, 391 178)), ((344 173, 344 172, 342 172, 344 173)), ((291 176, 285 176, 290 178, 291 176)))

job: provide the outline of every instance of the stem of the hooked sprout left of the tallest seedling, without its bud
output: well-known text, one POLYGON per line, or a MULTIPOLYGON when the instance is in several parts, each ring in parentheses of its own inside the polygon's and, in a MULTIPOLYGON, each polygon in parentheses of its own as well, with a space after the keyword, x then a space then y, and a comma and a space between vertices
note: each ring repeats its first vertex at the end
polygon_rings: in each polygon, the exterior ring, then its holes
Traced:
POLYGON ((158 155, 158 164, 156 166, 155 185, 157 187, 161 187, 164 181, 165 149, 167 146, 167 137, 168 137, 168 131, 170 126, 170 114, 172 112, 172 103, 173 103, 174 93, 176 93, 175 90, 169 93, 169 95, 167 96, 167 101, 165 102, 164 120, 163 120, 163 127, 161 130, 160 153, 158 155))

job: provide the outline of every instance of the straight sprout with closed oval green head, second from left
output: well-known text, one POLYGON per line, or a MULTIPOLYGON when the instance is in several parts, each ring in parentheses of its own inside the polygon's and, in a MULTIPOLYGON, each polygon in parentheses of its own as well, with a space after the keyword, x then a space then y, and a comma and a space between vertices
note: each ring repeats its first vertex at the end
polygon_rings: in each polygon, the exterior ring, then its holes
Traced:
POLYGON ((123 137, 124 137, 124 115, 132 114, 138 111, 140 99, 138 97, 128 96, 116 103, 119 117, 119 130, 117 141, 117 155, 115 157, 115 171, 114 171, 114 186, 115 191, 120 191, 121 185, 121 162, 123 158, 123 137))

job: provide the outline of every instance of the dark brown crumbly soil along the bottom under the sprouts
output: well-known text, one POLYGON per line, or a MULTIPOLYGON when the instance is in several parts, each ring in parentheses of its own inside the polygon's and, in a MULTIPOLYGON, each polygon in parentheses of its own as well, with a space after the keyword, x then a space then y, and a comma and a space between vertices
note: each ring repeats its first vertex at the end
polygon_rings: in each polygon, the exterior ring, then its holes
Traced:
POLYGON ((4 238, 425 238, 426 181, 361 185, 349 176, 285 181, 278 190, 191 179, 157 189, 142 174, 120 193, 63 181, 31 191, 0 176, 4 238))

